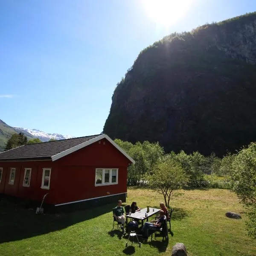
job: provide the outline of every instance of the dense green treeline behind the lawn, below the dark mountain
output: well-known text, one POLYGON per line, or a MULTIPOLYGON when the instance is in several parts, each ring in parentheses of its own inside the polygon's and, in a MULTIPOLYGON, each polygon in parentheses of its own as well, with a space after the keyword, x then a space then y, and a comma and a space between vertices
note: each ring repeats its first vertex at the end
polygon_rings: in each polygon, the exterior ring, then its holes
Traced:
POLYGON ((204 156, 198 151, 186 154, 180 151, 178 154, 171 152, 165 154, 159 143, 137 142, 132 144, 116 139, 115 142, 134 160, 135 164, 128 168, 128 185, 145 184, 148 173, 154 172, 154 168, 166 160, 172 158, 181 163, 187 175, 188 187, 219 187, 230 188, 229 177, 232 171, 232 163, 237 154, 227 153, 224 157, 217 157, 214 153, 204 156))

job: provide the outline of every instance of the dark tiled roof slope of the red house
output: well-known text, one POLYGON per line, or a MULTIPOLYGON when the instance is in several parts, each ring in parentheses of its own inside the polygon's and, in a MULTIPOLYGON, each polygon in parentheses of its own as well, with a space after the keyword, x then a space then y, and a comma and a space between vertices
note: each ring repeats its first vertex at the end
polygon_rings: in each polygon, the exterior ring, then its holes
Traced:
POLYGON ((55 154, 73 148, 88 140, 99 137, 101 134, 79 137, 67 140, 55 140, 49 142, 23 145, 0 153, 0 161, 4 160, 47 160, 55 154))

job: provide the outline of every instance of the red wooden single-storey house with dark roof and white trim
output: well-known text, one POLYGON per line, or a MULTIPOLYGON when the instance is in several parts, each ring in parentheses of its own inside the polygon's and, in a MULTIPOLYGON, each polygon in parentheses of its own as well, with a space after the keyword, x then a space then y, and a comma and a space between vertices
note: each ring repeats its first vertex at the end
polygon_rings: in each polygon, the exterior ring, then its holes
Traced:
POLYGON ((0 193, 55 207, 125 201, 134 163, 106 134, 23 145, 0 153, 0 193))

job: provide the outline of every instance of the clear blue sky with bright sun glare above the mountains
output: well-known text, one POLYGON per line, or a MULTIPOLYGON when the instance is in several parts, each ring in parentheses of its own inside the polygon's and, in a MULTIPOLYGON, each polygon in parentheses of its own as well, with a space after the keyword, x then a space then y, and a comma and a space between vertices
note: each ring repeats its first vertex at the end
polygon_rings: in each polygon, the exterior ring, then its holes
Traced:
POLYGON ((0 119, 98 134, 143 48, 254 11, 255 0, 0 0, 0 119))

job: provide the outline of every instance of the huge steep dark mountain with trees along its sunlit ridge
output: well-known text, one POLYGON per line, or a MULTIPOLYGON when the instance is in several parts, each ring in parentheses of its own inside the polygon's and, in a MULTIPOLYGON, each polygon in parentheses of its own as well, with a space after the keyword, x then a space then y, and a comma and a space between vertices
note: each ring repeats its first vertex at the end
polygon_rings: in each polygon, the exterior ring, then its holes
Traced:
POLYGON ((114 90, 103 132, 218 155, 256 140, 256 12, 144 49, 114 90))

